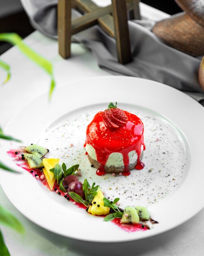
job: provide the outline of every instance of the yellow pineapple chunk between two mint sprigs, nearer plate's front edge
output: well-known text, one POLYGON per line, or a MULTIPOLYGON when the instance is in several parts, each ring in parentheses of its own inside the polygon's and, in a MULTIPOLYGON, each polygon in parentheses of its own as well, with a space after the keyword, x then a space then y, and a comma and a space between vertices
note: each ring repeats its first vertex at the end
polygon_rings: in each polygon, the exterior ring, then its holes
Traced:
POLYGON ((99 216, 108 214, 110 212, 110 208, 104 206, 103 198, 103 192, 99 187, 97 190, 97 195, 94 196, 94 199, 92 200, 92 205, 90 205, 90 207, 88 208, 88 213, 99 216), (94 204, 94 202, 96 203, 94 204))

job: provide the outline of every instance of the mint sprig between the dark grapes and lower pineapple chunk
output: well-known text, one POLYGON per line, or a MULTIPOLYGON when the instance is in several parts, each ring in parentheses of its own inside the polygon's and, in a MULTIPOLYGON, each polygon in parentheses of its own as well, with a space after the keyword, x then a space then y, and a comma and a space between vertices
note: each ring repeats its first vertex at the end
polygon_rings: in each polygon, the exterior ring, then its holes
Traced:
POLYGON ((88 180, 85 179, 82 184, 82 189, 83 189, 83 193, 85 195, 85 200, 83 200, 83 198, 80 195, 78 195, 74 192, 69 192, 69 195, 73 200, 75 200, 75 202, 81 203, 81 204, 85 205, 86 207, 89 207, 94 196, 97 195, 98 188, 99 188, 99 185, 95 186, 95 182, 92 184, 92 186, 90 186, 90 184, 88 183, 88 180))

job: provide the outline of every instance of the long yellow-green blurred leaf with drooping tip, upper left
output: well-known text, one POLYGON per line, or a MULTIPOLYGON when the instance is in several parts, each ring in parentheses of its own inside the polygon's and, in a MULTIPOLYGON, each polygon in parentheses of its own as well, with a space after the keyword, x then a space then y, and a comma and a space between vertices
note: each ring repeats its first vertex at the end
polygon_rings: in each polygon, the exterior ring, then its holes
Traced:
POLYGON ((11 43, 12 45, 16 45, 20 51, 25 54, 31 61, 36 63, 39 67, 41 67, 45 72, 50 75, 50 91, 49 91, 49 99, 53 93, 55 88, 55 80, 53 78, 53 65, 50 61, 46 60, 46 58, 37 54, 33 49, 31 49, 28 45, 26 45, 22 38, 15 33, 2 33, 0 34, 0 40, 11 43))

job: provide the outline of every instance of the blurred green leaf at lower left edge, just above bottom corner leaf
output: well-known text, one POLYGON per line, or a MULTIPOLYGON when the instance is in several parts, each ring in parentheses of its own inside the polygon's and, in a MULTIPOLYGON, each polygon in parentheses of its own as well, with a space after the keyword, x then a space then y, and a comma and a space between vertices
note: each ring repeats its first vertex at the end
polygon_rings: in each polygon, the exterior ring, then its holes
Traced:
POLYGON ((22 224, 9 211, 0 205, 0 224, 15 229, 19 233, 24 232, 22 224))

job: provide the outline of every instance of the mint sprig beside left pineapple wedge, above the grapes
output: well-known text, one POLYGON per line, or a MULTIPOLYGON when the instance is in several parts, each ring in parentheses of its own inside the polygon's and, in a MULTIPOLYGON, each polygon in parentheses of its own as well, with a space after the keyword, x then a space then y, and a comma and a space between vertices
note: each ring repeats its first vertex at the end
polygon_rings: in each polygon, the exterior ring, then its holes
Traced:
POLYGON ((54 173, 54 177, 57 180, 57 184, 59 184, 59 189, 61 191, 66 192, 66 189, 62 185, 64 178, 66 178, 69 175, 74 175, 75 171, 79 168, 79 164, 75 164, 67 169, 66 164, 63 163, 62 166, 59 164, 55 165, 55 168, 51 168, 50 172, 54 173))

